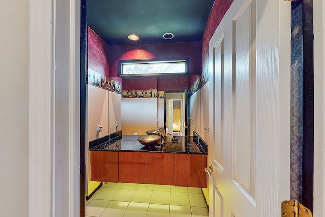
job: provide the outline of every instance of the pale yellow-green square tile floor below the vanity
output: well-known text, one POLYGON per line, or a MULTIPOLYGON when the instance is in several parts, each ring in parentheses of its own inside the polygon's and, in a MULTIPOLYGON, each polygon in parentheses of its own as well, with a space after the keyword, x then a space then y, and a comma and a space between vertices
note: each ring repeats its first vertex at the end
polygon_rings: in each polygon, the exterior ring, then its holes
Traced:
POLYGON ((200 188, 105 183, 86 201, 87 217, 209 216, 200 188))

